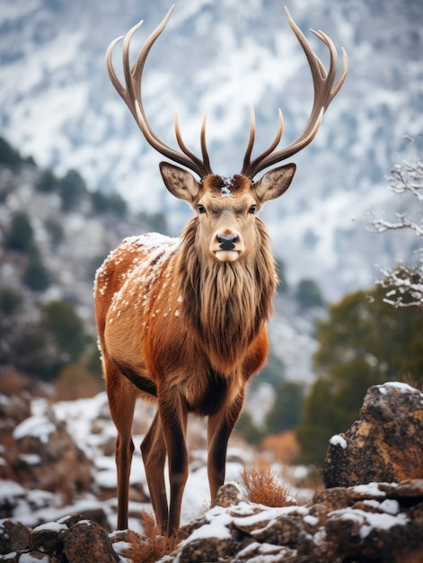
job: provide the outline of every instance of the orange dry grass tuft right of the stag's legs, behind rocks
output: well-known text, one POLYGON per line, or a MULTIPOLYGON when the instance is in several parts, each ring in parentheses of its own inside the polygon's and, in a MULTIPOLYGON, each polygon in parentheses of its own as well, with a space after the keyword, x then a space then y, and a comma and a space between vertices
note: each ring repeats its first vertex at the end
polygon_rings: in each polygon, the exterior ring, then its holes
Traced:
POLYGON ((279 483, 277 474, 264 460, 255 461, 251 469, 242 469, 241 477, 251 503, 266 506, 292 504, 288 498, 289 487, 279 483))

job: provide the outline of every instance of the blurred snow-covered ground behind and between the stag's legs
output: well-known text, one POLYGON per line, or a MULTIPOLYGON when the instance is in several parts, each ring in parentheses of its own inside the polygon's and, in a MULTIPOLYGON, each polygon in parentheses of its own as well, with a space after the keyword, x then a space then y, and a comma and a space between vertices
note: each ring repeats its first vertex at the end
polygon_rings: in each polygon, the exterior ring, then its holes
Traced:
MULTIPOLYGON (((7 398, 4 398, 7 400, 7 398)), ((146 407, 139 401, 134 421, 134 443, 136 450, 132 463, 130 484, 135 489, 142 489, 147 494, 145 470, 139 444, 143 433, 152 420, 154 407, 146 407)), ((93 487, 82 497, 75 498, 71 504, 63 505, 63 498, 57 493, 40 489, 23 487, 11 480, 0 480, 0 505, 9 502, 14 505, 10 514, 13 519, 32 528, 39 523, 56 521, 66 514, 92 511, 101 508, 107 515, 110 528, 116 526, 117 500, 116 465, 114 460, 114 440, 116 429, 110 421, 107 397, 104 392, 93 398, 83 398, 75 401, 62 401, 50 405, 44 398, 37 398, 31 402, 31 417, 15 426, 13 437, 22 439, 24 436, 36 437, 40 440, 40 447, 47 443, 49 436, 55 431, 57 423, 65 423, 75 443, 84 451, 89 460, 93 461, 93 487), (53 415, 53 418, 52 416, 53 415), (99 496, 109 491, 109 498, 100 500, 99 496), (9 501, 8 501, 9 499, 9 501)), ((204 421, 194 417, 189 419, 189 479, 185 487, 182 503, 181 523, 188 523, 193 517, 202 514, 209 506, 209 490, 207 480, 207 453, 204 449, 206 428, 204 421)), ((245 464, 251 463, 257 456, 239 438, 234 437, 230 442, 226 464, 226 481, 242 483, 241 471, 245 464)), ((27 463, 39 463, 38 456, 26 457, 27 463)), ((0 463, 2 458, 0 457, 0 463)), ((4 460, 3 460, 4 464, 4 460)), ((282 478, 282 468, 274 466, 275 472, 282 478)), ((142 509, 151 512, 148 502, 129 503, 129 527, 140 530, 139 514, 142 509)))

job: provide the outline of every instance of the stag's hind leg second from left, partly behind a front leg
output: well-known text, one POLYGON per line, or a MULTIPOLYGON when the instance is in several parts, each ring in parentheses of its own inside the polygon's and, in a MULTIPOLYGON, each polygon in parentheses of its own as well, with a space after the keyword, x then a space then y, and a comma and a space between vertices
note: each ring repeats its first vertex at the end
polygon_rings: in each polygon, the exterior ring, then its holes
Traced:
POLYGON ((166 487, 164 485, 166 445, 164 443, 162 424, 158 411, 141 443, 141 453, 143 455, 145 476, 147 478, 155 519, 160 532, 164 534, 167 530, 168 520, 166 487))

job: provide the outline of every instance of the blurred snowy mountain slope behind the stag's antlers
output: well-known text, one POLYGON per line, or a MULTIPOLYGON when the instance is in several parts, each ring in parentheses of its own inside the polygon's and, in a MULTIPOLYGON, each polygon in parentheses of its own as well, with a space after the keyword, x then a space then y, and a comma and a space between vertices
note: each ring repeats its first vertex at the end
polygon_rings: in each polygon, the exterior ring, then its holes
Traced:
MULTIPOLYGON (((408 259, 415 242, 387 243, 368 234, 366 223, 371 210, 395 210, 383 176, 413 157, 404 133, 423 130, 423 5, 295 0, 288 7, 324 61, 327 53, 308 28, 326 31, 347 49, 350 70, 317 139, 295 156, 293 186, 263 217, 292 280, 314 277, 336 299, 370 283, 375 263, 408 259)), ((77 168, 90 185, 118 189, 134 207, 169 212, 177 231, 187 207, 165 192, 161 156, 142 139, 104 67, 110 40, 144 18, 135 52, 168 8, 163 0, 1 0, 0 135, 57 173, 77 168)), ((208 106, 208 147, 220 174, 241 168, 250 103, 259 152, 273 139, 279 106, 283 142, 302 130, 312 90, 277 0, 181 0, 145 67, 145 110, 169 144, 178 108, 183 137, 198 150, 208 106)))

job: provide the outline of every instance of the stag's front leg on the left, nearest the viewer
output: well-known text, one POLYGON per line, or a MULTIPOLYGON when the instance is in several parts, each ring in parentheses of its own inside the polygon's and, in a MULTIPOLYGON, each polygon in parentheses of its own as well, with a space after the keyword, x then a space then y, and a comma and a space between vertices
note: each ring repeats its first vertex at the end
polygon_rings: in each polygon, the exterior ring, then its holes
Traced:
POLYGON ((169 463, 171 498, 167 536, 177 532, 181 520, 183 489, 188 478, 188 451, 185 442, 188 411, 175 389, 159 392, 159 414, 169 463))

